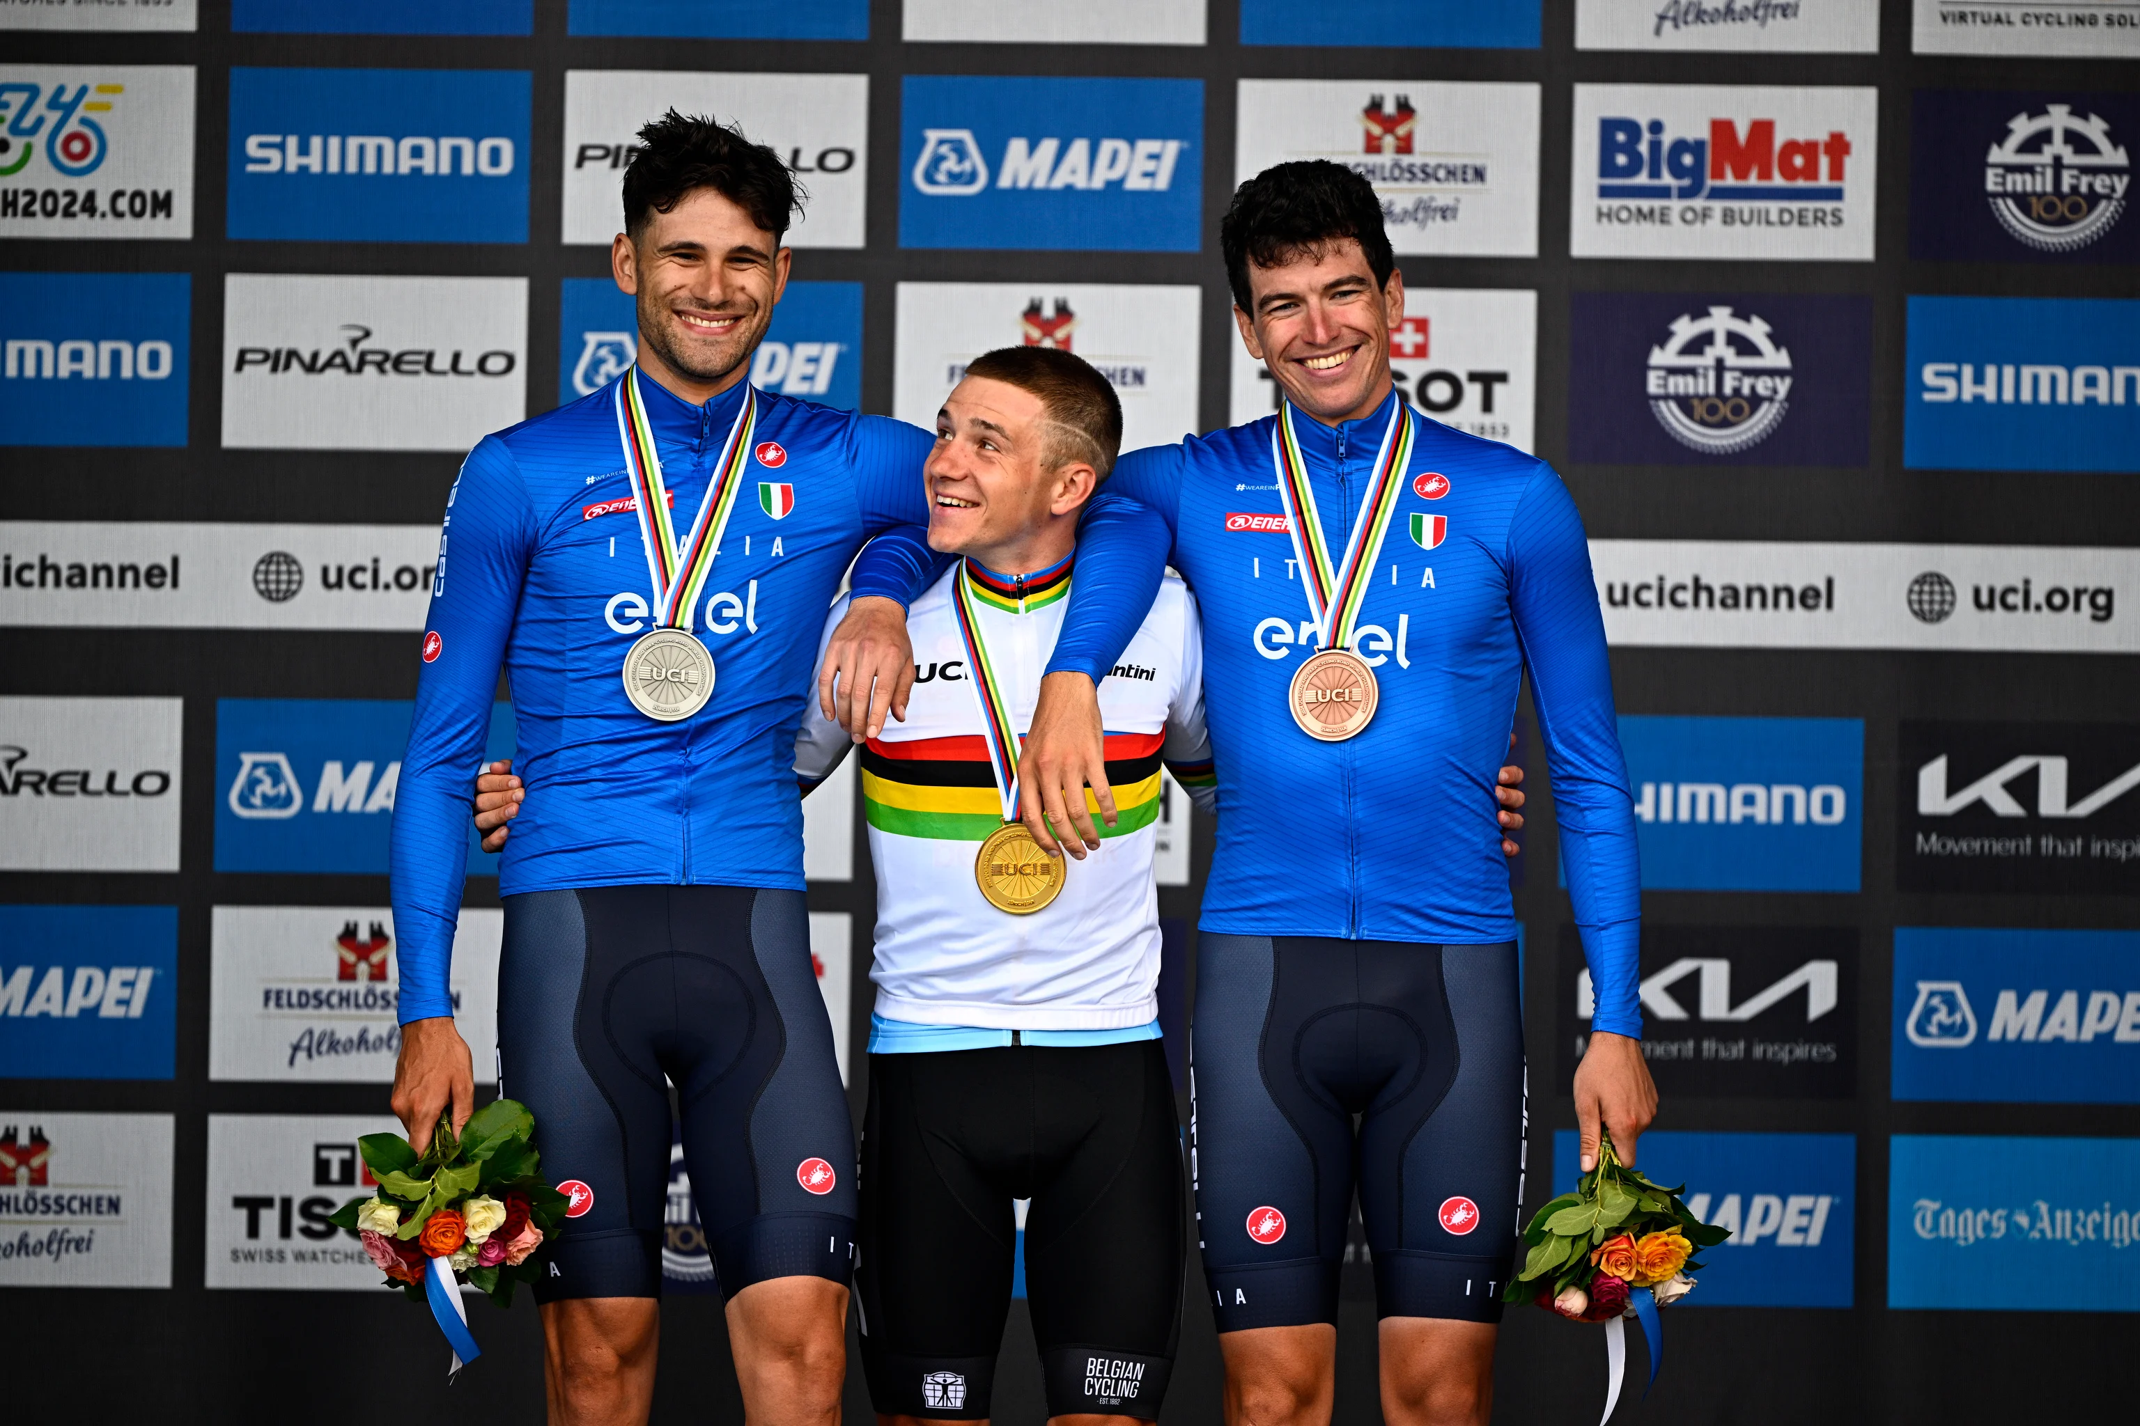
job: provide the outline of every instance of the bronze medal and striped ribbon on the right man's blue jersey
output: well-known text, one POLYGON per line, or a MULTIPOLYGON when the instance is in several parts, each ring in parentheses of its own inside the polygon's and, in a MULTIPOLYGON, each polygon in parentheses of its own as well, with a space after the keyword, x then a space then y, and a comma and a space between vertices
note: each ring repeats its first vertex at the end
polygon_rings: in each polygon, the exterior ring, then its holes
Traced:
POLYGON ((1293 402, 1278 408, 1271 432, 1271 462, 1278 466, 1278 498, 1286 507, 1286 537, 1293 541, 1295 567, 1308 592, 1308 614, 1316 626, 1320 652, 1301 663, 1286 691, 1286 706, 1303 733, 1318 742, 1344 742, 1374 718, 1380 688, 1367 661, 1352 652, 1352 631, 1361 605, 1367 603, 1367 579, 1382 554, 1389 517, 1397 509, 1404 468, 1412 458, 1410 408, 1402 398, 1382 430, 1374 455, 1374 479, 1367 483, 1344 560, 1333 569, 1329 543, 1323 539, 1323 515, 1316 511, 1308 460, 1293 432, 1293 402))

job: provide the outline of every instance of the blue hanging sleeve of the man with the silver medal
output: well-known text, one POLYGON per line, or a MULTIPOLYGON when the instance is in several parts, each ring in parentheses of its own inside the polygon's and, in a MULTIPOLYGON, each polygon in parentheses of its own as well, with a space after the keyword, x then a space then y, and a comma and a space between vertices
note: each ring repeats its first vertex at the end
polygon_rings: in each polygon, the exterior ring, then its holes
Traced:
POLYGON ((402 1024, 454 1013, 447 968, 469 870, 469 800, 535 545, 533 526, 511 453, 484 438, 445 498, 415 718, 394 793, 402 1024))

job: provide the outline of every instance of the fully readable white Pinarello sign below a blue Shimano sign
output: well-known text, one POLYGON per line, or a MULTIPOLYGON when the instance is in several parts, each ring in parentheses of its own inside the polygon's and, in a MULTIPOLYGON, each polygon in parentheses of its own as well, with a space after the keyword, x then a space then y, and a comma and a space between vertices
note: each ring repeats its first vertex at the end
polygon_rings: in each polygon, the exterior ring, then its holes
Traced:
POLYGON ((526 278, 223 284, 223 445, 454 451, 526 413, 526 278))

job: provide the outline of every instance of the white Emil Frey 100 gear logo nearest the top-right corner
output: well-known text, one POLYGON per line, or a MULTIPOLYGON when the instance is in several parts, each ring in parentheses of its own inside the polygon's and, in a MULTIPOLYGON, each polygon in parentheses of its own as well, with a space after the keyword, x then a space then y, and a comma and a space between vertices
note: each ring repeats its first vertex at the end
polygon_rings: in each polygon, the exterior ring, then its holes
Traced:
POLYGON ((2039 252, 2074 252, 2125 212, 2131 160, 2110 124, 2072 105, 2016 113, 1984 156, 1984 195, 1999 227, 2039 252))

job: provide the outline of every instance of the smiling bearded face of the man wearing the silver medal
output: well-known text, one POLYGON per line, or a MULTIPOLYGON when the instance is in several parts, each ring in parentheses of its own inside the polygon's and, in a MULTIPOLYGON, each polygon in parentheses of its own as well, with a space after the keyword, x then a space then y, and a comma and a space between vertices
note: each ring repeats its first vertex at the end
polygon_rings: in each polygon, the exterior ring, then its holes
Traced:
POLYGON ((638 242, 618 235, 616 248, 616 282, 638 297, 640 344, 691 383, 728 385, 773 323, 788 248, 713 188, 651 214, 638 242))

